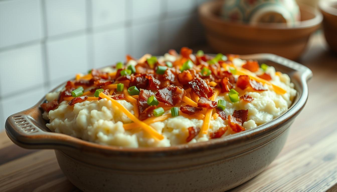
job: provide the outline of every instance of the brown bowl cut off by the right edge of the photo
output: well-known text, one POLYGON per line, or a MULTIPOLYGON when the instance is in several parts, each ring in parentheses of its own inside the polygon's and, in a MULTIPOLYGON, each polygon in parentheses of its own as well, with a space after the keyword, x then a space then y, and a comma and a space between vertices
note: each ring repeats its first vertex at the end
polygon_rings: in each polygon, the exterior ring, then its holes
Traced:
POLYGON ((337 52, 337 1, 320 1, 318 6, 323 14, 325 39, 330 48, 337 52))

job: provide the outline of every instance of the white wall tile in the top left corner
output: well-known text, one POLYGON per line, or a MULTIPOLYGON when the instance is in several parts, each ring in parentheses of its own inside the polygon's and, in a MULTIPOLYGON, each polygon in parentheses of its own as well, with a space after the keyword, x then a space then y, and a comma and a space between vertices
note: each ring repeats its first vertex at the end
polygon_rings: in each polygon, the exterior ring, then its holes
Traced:
POLYGON ((39 2, 0 1, 0 48, 42 38, 39 2))

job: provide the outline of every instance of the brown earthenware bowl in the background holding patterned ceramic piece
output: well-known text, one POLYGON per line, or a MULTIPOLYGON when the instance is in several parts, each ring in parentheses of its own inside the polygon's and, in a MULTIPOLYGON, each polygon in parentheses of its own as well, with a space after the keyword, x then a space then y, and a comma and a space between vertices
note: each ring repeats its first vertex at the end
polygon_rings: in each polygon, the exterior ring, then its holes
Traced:
POLYGON ((221 53, 274 53, 291 60, 303 53, 310 35, 318 29, 323 16, 300 5, 301 22, 295 27, 286 24, 246 25, 225 21, 220 17, 223 1, 210 1, 199 8, 206 37, 211 47, 221 53))

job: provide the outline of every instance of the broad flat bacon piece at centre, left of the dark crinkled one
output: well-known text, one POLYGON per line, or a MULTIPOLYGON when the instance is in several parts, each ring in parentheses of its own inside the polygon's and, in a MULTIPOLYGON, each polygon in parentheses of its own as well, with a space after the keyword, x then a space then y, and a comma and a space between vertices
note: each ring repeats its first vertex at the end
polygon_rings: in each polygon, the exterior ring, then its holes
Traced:
POLYGON ((175 106, 181 102, 185 94, 186 91, 183 88, 178 86, 169 86, 159 89, 155 96, 158 101, 170 106, 175 106))

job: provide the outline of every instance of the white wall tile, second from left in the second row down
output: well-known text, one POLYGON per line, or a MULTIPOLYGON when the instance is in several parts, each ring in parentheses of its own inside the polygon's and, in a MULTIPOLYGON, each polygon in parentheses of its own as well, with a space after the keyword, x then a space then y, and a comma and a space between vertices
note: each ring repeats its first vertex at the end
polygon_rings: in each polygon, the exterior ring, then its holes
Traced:
POLYGON ((47 42, 49 78, 51 82, 74 77, 89 69, 85 35, 47 42))

